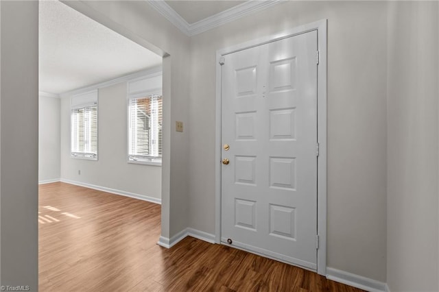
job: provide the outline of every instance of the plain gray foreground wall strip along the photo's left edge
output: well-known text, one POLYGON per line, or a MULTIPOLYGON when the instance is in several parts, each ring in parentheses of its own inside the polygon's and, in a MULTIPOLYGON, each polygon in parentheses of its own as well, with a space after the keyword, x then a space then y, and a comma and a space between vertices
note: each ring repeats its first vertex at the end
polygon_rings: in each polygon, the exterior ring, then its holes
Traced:
POLYGON ((38 2, 1 1, 1 285, 38 289, 38 2))

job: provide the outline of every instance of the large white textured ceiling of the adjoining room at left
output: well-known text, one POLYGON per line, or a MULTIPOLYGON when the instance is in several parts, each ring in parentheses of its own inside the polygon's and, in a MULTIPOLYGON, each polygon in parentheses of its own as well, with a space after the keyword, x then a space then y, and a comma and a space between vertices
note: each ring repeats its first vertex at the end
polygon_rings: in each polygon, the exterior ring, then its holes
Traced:
POLYGON ((40 1, 40 91, 60 94, 128 75, 162 58, 59 1, 40 1))

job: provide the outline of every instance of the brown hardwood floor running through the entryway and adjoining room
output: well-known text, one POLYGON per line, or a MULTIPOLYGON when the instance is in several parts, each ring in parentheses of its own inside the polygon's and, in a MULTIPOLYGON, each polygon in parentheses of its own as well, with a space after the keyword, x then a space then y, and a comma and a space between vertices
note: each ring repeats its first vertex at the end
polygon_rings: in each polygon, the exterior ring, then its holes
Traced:
POLYGON ((39 198, 39 291, 361 291, 192 237, 167 250, 157 204, 61 182, 39 198))

